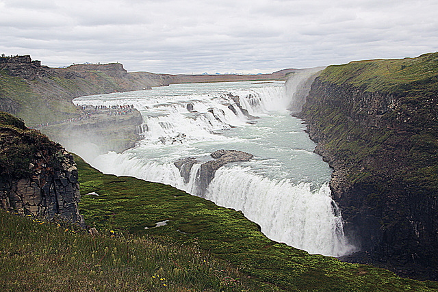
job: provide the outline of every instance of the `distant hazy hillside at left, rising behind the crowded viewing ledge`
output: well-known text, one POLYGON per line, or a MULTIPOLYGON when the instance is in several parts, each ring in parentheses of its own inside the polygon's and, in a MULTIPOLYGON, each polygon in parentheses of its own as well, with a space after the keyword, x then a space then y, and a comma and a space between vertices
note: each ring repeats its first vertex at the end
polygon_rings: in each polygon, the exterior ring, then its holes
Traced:
POLYGON ((129 73, 122 64, 49 68, 29 55, 0 57, 0 109, 30 126, 78 118, 82 113, 71 103, 75 97, 169 85, 170 76, 129 73))

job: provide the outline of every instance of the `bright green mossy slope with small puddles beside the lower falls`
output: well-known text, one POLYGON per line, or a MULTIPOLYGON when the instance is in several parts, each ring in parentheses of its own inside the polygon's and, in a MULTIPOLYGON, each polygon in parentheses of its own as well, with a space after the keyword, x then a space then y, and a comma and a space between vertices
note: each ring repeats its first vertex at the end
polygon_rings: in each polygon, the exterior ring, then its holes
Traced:
POLYGON ((241 212, 168 185, 101 174, 79 157, 75 161, 83 194, 80 209, 90 226, 198 246, 261 284, 252 291, 272 291, 266 282, 282 291, 438 290, 436 282, 408 280, 385 269, 343 263, 271 241, 241 212), (90 192, 99 196, 85 195, 90 192), (164 220, 166 226, 153 228, 164 220))

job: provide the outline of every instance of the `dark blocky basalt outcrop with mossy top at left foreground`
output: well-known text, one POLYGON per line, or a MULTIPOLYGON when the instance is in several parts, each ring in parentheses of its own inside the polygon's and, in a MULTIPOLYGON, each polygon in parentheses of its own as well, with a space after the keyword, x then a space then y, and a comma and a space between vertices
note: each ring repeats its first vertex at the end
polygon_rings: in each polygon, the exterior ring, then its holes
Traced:
POLYGON ((73 156, 21 120, 0 113, 0 206, 22 215, 84 224, 73 156))

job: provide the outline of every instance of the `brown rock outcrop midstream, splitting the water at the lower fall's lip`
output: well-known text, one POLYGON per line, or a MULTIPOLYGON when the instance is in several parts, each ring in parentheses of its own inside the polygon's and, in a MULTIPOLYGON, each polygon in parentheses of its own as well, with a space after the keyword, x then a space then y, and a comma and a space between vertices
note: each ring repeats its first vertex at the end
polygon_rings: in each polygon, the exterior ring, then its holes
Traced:
MULTIPOLYGON (((250 161, 253 158, 252 154, 238 151, 238 150, 216 150, 210 154, 214 160, 210 160, 201 164, 198 174, 196 174, 196 185, 198 187, 198 196, 203 196, 209 183, 214 178, 216 170, 227 163, 250 161)), ((189 182, 190 171, 193 165, 200 163, 194 157, 188 157, 175 161, 175 166, 179 169, 181 176, 184 178, 185 183, 189 182)))

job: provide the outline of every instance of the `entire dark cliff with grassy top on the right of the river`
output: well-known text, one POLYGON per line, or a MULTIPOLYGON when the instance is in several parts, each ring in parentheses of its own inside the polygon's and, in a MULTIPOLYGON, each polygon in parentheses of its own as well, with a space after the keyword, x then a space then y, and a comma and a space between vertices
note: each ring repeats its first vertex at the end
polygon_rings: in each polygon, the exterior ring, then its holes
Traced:
POLYGON ((438 280, 438 53, 329 66, 297 116, 333 168, 361 252, 346 261, 438 280))

